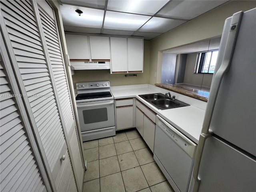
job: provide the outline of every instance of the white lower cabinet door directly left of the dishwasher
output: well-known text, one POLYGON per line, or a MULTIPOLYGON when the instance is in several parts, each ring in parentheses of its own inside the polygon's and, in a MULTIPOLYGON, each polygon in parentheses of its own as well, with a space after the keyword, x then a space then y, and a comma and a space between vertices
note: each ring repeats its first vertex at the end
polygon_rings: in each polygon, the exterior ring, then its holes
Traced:
POLYGON ((155 128, 156 124, 148 116, 144 115, 143 139, 152 152, 154 152, 155 128))

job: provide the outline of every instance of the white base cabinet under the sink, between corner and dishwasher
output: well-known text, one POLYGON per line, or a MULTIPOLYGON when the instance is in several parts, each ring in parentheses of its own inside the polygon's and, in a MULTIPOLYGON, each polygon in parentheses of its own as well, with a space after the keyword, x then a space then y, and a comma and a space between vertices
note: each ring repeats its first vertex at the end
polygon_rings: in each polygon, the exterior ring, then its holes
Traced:
POLYGON ((136 100, 136 129, 152 152, 154 152, 155 128, 156 113, 136 100))

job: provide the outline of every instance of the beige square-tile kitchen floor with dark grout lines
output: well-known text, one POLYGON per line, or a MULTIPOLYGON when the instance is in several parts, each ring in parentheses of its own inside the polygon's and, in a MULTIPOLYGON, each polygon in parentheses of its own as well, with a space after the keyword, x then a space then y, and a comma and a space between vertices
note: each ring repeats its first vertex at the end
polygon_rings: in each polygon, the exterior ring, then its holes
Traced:
POLYGON ((136 129, 83 144, 83 192, 174 192, 136 129))

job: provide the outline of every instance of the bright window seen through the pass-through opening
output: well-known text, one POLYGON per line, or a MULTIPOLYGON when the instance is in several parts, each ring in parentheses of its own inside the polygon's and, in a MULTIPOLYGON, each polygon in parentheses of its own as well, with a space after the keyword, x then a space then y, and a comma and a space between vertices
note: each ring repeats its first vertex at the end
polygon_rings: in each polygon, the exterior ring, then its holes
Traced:
POLYGON ((209 52, 198 53, 196 59, 195 73, 213 74, 217 61, 218 52, 218 50, 214 50, 209 52))

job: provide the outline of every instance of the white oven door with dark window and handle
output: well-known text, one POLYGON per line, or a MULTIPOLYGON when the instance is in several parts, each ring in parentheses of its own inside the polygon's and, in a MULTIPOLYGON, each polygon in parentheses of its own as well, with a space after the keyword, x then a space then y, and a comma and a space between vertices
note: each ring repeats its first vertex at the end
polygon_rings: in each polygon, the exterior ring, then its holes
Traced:
POLYGON ((81 131, 115 126, 114 100, 77 104, 81 131))

